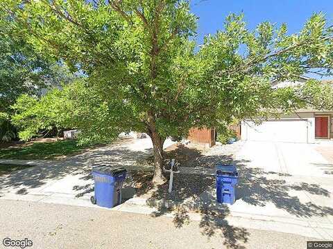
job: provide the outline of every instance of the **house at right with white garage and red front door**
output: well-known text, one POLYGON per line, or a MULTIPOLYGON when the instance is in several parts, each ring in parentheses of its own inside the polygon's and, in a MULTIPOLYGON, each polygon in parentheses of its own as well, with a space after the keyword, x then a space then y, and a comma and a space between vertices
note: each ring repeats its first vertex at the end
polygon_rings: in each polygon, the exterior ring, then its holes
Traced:
MULTIPOLYGON (((273 87, 299 86, 307 77, 296 82, 275 82, 273 87)), ((241 122, 241 139, 274 142, 314 143, 317 139, 333 138, 333 111, 300 109, 290 116, 269 119, 255 125, 251 120, 241 122)))

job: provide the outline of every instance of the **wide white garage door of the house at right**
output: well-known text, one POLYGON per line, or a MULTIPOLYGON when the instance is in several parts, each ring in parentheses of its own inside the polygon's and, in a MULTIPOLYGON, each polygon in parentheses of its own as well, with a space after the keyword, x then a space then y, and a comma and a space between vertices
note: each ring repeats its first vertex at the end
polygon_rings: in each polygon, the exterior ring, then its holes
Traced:
POLYGON ((307 121, 274 120, 260 125, 247 122, 246 140, 273 142, 307 142, 307 121))

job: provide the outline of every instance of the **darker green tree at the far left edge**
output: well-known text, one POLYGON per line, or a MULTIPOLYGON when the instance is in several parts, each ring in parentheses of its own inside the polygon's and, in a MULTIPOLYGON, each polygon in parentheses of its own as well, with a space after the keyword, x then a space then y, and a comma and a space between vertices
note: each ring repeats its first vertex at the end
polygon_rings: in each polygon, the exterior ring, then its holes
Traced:
POLYGON ((43 57, 18 33, 7 12, 0 12, 0 142, 16 138, 11 105, 19 95, 41 95, 74 76, 54 59, 43 57))

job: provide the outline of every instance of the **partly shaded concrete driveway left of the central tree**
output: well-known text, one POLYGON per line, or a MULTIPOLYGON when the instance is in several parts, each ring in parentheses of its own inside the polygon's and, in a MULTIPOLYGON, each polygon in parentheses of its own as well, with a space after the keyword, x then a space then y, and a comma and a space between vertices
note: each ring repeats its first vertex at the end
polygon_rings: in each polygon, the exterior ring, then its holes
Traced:
MULTIPOLYGON (((171 144, 171 140, 166 140, 164 147, 171 144)), ((149 165, 137 165, 139 160, 151 155, 151 148, 149 138, 126 139, 65 160, 0 160, 0 163, 37 165, 1 176, 0 196, 51 202, 61 198, 65 198, 63 201, 75 199, 77 196, 89 199, 93 190, 90 174, 93 165, 106 163, 126 169, 152 170, 149 165)))

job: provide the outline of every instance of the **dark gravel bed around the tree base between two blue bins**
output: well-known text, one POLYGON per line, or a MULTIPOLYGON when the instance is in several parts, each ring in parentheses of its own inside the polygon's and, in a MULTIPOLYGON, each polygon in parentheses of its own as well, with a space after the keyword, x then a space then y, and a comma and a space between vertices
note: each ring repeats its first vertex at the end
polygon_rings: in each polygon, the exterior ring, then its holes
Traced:
MULTIPOLYGON (((196 145, 171 145, 166 149, 166 160, 176 158, 181 167, 214 168, 218 163, 230 163, 243 142, 234 142, 232 145, 216 145, 209 149, 203 149, 196 145)), ((147 160, 151 160, 148 158, 147 160)), ((151 162, 152 163, 152 162, 151 162)), ((173 192, 169 193, 169 181, 153 189, 151 179, 152 172, 130 172, 131 178, 126 181, 126 186, 135 188, 137 196, 144 195, 150 200, 175 201, 182 203, 188 199, 194 199, 202 194, 208 186, 215 185, 214 176, 195 174, 175 174, 173 180, 173 192)))

